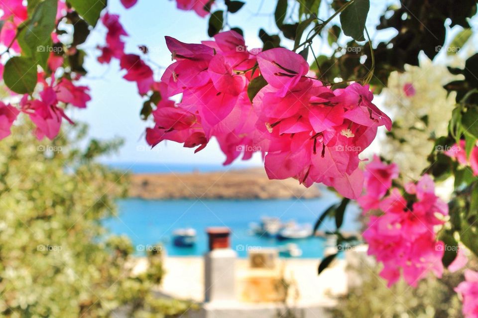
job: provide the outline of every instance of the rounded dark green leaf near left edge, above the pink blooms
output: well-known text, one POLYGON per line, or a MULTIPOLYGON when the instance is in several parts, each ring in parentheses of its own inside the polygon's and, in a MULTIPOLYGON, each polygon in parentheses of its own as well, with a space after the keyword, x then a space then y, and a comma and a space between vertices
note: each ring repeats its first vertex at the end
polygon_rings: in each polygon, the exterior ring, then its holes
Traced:
POLYGON ((36 86, 36 63, 32 59, 14 56, 5 63, 3 81, 15 93, 32 93, 36 86))

